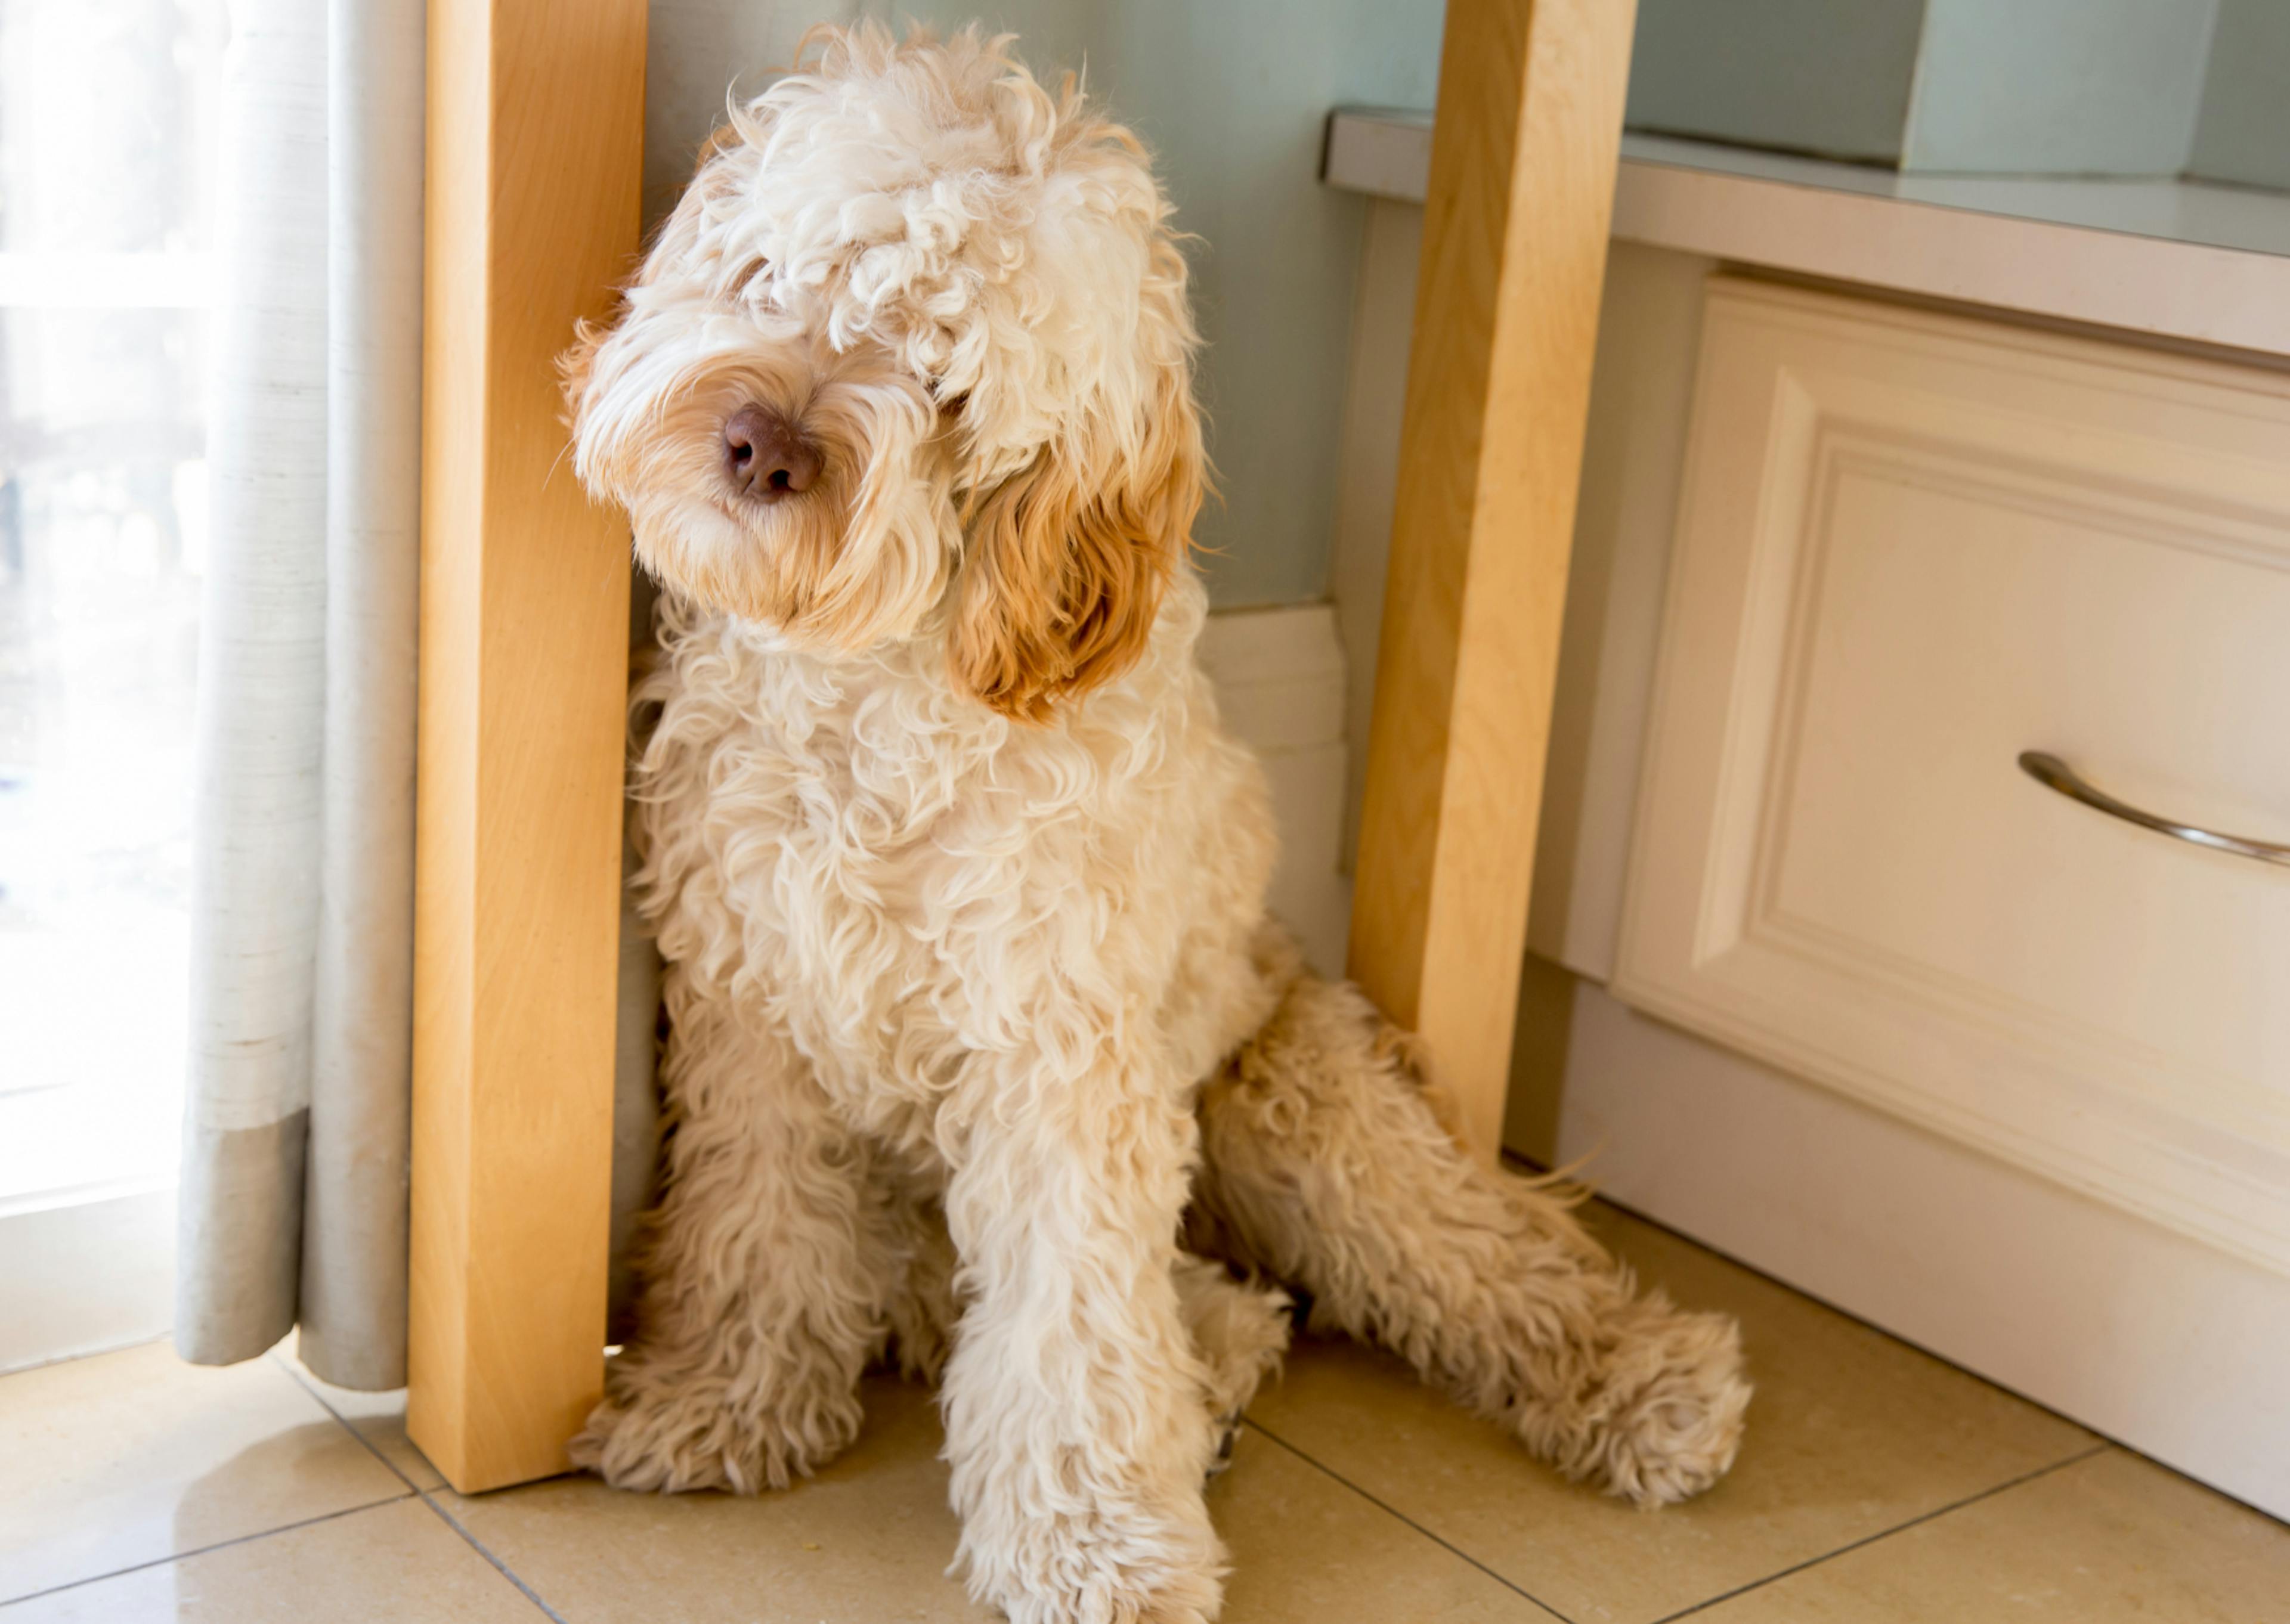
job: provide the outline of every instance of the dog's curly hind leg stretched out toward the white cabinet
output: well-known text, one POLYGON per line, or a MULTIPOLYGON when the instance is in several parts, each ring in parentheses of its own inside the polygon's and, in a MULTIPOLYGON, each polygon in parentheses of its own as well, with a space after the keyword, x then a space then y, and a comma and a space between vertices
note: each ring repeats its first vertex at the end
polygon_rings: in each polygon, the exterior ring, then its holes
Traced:
POLYGON ((1298 978, 1200 1097, 1193 1235, 1312 1294, 1571 1477, 1642 1505, 1734 1464, 1750 1383, 1722 1315, 1633 1294, 1571 1200, 1445 1134, 1399 1033, 1298 978))

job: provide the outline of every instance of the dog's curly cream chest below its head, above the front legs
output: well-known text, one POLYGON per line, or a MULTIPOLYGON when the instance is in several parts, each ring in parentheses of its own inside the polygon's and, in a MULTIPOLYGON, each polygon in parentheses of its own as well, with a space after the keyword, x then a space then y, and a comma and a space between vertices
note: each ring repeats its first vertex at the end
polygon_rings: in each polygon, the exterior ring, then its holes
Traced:
POLYGON ((747 671, 664 692, 639 781, 671 960, 767 1008, 852 1090, 943 1086, 1044 1003, 1168 973, 1198 818, 1182 703, 1024 728, 943 689, 747 671))

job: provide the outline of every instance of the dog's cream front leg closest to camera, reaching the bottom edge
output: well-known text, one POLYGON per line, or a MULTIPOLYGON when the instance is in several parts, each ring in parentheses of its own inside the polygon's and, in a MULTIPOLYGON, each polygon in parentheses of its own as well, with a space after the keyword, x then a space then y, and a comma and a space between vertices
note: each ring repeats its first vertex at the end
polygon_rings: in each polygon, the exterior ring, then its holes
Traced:
POLYGON ((1138 1056, 996 1063, 946 1216, 969 1301, 946 1450, 971 1592, 1012 1624, 1216 1617, 1211 1436, 1172 1269, 1195 1148, 1138 1056))

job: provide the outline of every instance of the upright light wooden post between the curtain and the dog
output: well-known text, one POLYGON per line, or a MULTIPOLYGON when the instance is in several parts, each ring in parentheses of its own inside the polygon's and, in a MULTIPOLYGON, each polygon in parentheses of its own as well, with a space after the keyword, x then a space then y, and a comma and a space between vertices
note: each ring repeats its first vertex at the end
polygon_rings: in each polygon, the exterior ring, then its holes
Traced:
POLYGON ((637 250, 646 0, 431 0, 408 1427, 456 1489, 598 1397, 627 529, 554 355, 637 250))

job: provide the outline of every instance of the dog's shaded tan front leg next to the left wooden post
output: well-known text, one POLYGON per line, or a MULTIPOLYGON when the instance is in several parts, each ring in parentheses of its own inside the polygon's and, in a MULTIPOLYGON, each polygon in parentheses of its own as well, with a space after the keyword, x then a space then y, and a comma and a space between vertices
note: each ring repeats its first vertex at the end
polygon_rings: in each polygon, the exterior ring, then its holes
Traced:
POLYGON ((779 1489, 859 1432, 895 1264, 889 1200, 783 1038, 676 969, 666 992, 639 1329, 572 1461, 621 1489, 779 1489))

